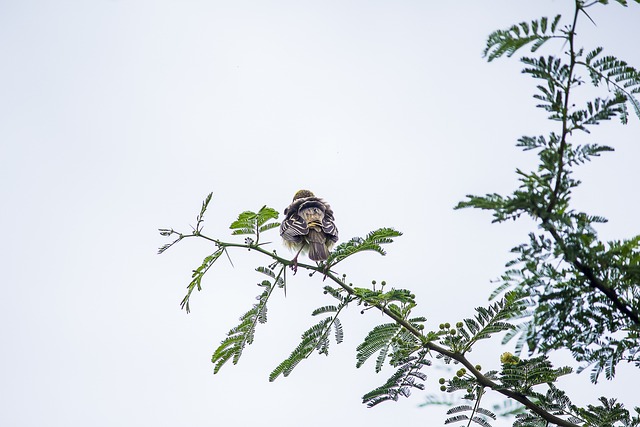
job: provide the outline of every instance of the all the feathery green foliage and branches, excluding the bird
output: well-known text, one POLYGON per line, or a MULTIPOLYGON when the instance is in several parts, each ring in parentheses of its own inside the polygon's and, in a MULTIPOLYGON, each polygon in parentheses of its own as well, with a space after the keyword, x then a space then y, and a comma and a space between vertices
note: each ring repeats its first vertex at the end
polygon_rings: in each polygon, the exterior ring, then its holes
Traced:
MULTIPOLYGON (((640 3, 640 0, 636 0, 640 3)), ((373 369, 385 365, 394 369, 384 384, 366 393, 362 400, 369 407, 388 400, 408 397, 414 389, 425 389, 427 372, 434 360, 458 367, 451 378, 440 378, 440 390, 447 398, 430 397, 428 404, 450 406, 445 424, 463 422, 488 427, 498 416, 509 416, 514 427, 533 426, 640 426, 640 408, 635 413, 615 399, 602 397, 597 404, 579 407, 558 388, 558 378, 573 372, 571 367, 554 367, 547 357, 555 350, 568 349, 580 364, 577 371, 591 367, 596 382, 604 373, 614 378, 616 367, 628 362, 640 367, 640 236, 604 242, 596 228, 606 219, 577 211, 572 194, 581 185, 573 170, 613 151, 609 145, 578 144, 578 133, 588 134, 593 126, 613 118, 629 122, 629 111, 640 117, 640 73, 625 61, 607 55, 602 47, 591 50, 576 45, 580 17, 592 18, 587 9, 605 5, 606 0, 575 1, 573 17, 563 21, 560 15, 513 25, 492 33, 484 55, 488 61, 511 57, 529 47, 536 53, 558 42, 550 55, 522 57, 522 72, 538 83, 534 99, 557 128, 547 135, 522 136, 517 146, 534 152, 538 166, 532 171, 516 170, 518 187, 508 195, 469 195, 456 208, 473 207, 492 212, 494 222, 517 220, 525 216, 538 228, 515 246, 513 259, 506 265, 500 284, 492 293, 490 305, 477 307, 475 314, 455 322, 426 329, 426 318, 414 314, 418 302, 407 289, 378 286, 354 286, 335 268, 350 256, 363 251, 386 255, 383 245, 402 235, 393 228, 380 228, 365 237, 354 237, 339 244, 325 263, 297 267, 318 273, 331 285, 324 294, 333 299, 312 312, 317 320, 301 336, 300 344, 290 352, 269 376, 288 376, 314 352, 329 354, 330 344, 343 341, 340 320, 350 305, 361 312, 377 310, 385 322, 373 327, 356 349, 356 367, 375 359, 373 369), (578 86, 590 85, 594 95, 578 102, 578 86), (516 340, 516 354, 505 352, 500 366, 483 370, 468 354, 485 339, 499 335, 503 343, 516 340), (375 357, 374 357, 375 356, 375 357), (506 401, 493 410, 481 406, 487 393, 500 394, 506 401)), ((626 6, 624 0, 617 3, 626 6)), ((181 305, 190 310, 194 289, 202 289, 202 280, 221 255, 235 248, 249 249, 267 257, 271 264, 257 271, 267 276, 258 285, 257 302, 240 317, 240 323, 227 333, 214 351, 214 373, 231 360, 238 363, 244 349, 255 338, 258 324, 267 321, 267 303, 274 290, 286 290, 286 270, 293 261, 278 256, 261 242, 264 233, 277 228, 279 213, 263 206, 257 212, 245 211, 230 229, 233 236, 246 236, 244 242, 225 242, 202 233, 204 214, 211 201, 209 194, 189 234, 160 229, 163 236, 175 239, 163 247, 163 253, 187 237, 199 237, 215 245, 192 274, 181 305)), ((496 357, 496 364, 498 358, 496 357)))

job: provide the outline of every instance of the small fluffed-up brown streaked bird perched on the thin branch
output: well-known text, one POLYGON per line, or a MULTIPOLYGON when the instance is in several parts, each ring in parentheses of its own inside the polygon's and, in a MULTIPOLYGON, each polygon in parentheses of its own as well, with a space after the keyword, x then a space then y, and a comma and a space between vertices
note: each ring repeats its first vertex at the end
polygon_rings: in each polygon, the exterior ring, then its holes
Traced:
POLYGON ((297 249, 292 269, 298 267, 298 255, 308 251, 313 261, 326 261, 333 244, 338 241, 338 229, 333 223, 333 211, 327 202, 309 190, 300 190, 284 210, 280 235, 289 249, 297 249))

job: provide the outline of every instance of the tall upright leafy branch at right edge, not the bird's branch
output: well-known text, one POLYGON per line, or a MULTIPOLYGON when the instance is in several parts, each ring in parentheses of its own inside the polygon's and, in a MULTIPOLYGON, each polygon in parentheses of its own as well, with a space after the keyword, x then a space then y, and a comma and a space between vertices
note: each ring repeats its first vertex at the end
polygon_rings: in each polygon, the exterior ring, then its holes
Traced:
MULTIPOLYGON (((576 4, 577 19, 586 6, 576 4)), ((517 170, 520 186, 511 195, 468 196, 457 208, 491 210, 494 222, 515 220, 523 214, 538 222, 542 232, 530 233, 528 242, 512 249, 515 258, 507 264, 493 295, 515 290, 532 304, 524 313, 527 319, 507 340, 519 337, 518 349, 526 343, 530 352, 543 354, 568 348, 576 360, 585 363, 583 369, 593 366, 595 382, 602 372, 613 378, 616 365, 623 360, 640 363, 636 350, 640 346, 640 239, 602 242, 595 226, 606 219, 570 208, 571 194, 580 185, 571 178, 571 168, 613 151, 605 145, 573 145, 570 139, 574 130, 588 132, 589 126, 613 117, 626 123, 628 104, 640 116, 635 97, 640 92, 640 73, 625 61, 604 55, 602 47, 584 55, 583 49, 575 48, 574 26, 575 21, 559 35, 568 42, 568 55, 522 58, 523 72, 545 82, 534 95, 540 101, 538 107, 550 119, 562 122, 560 133, 519 139, 518 146, 537 151, 538 169, 517 170), (572 90, 585 84, 581 70, 611 96, 574 106, 569 101, 572 90)), ((522 34, 533 37, 536 33, 522 34)), ((490 60, 502 53, 513 54, 532 41, 525 36, 513 29, 494 33, 488 44, 491 50, 485 53, 489 52, 490 60)))

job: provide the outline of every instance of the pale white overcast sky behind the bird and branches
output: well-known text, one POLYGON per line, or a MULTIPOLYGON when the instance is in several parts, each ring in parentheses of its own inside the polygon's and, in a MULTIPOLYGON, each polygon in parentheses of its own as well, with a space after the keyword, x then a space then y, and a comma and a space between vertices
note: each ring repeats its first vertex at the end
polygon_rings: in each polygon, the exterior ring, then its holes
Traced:
MULTIPOLYGON (((452 207, 514 188, 514 168, 535 160, 515 140, 552 129, 519 63, 481 58, 485 38, 571 3, 1 1, 0 425, 441 425, 443 410, 417 408, 419 392, 360 403, 392 373, 354 367, 385 321, 373 312, 344 316, 331 357, 267 381, 331 302, 318 277, 290 280, 239 365, 213 376, 211 353, 255 302, 251 269, 264 262, 221 260, 186 315, 191 270, 212 248, 187 241, 158 256, 157 229, 189 230, 213 191, 205 231, 232 239, 239 212, 281 211, 308 188, 333 206, 343 241, 405 233, 386 258, 344 263, 355 285, 410 288, 432 329, 471 316, 530 224, 452 207)), ((591 16, 581 42, 640 66, 640 8, 591 16)), ((611 220, 605 239, 637 234, 638 120, 592 135, 617 152, 578 172, 576 205, 611 220)), ((505 350, 495 339, 471 358, 497 368, 505 350)), ((430 392, 450 375, 427 374, 430 392)), ((637 405, 637 371, 619 377, 561 386, 575 403, 637 405)))

